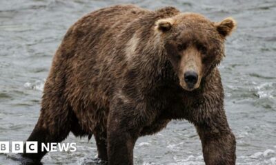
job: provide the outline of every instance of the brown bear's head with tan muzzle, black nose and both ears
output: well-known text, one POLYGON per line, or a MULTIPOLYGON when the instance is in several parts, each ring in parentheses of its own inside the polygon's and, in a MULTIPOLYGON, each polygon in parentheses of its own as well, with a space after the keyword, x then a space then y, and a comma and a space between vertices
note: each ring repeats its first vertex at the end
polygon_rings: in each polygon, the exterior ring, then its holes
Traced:
POLYGON ((155 30, 182 88, 197 89, 224 57, 224 41, 236 27, 232 18, 214 23, 200 14, 159 19, 155 30))

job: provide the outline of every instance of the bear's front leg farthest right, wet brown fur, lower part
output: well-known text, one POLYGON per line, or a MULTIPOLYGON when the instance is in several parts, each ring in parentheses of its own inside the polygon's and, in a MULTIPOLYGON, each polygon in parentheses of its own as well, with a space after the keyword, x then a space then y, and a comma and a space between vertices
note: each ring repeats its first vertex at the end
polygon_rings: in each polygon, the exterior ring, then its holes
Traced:
POLYGON ((201 139, 206 165, 235 164, 235 136, 228 126, 223 109, 208 116, 204 122, 195 123, 195 126, 201 139))

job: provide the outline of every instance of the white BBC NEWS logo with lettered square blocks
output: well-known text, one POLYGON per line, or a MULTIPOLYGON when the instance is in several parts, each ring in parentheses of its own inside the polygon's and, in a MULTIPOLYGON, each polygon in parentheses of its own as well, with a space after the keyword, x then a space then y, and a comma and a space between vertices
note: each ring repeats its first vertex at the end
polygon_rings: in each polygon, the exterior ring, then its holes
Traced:
MULTIPOLYGON (((0 142, 0 153, 23 153, 24 142, 0 142)), ((57 152, 57 151, 77 151, 76 143, 41 143, 40 152, 57 152)), ((38 153, 39 151, 37 142, 26 142, 26 153, 38 153)))

